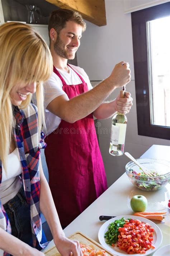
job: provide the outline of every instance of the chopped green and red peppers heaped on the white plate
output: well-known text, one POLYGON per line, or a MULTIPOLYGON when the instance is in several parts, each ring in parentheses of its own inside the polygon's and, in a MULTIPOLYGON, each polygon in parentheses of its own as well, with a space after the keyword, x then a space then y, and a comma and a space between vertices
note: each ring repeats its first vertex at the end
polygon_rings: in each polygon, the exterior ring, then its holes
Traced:
POLYGON ((105 233, 106 243, 117 247, 128 254, 146 253, 147 250, 155 248, 152 228, 148 223, 137 219, 115 220, 109 224, 105 233))

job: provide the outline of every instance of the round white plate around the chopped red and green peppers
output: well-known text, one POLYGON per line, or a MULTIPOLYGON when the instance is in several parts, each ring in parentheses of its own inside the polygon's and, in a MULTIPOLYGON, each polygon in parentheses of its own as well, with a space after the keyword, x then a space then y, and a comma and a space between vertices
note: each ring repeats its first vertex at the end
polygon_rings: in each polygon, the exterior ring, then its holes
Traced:
MULTIPOLYGON (((98 238, 99 238, 99 242, 100 244, 107 249, 108 251, 110 251, 111 253, 113 253, 114 255, 120 255, 120 256, 129 256, 129 254, 127 254, 126 252, 122 251, 121 249, 119 249, 117 246, 113 247, 109 244, 107 244, 105 242, 105 238, 104 238, 104 234, 108 231, 108 226, 111 222, 114 222, 115 220, 119 220, 122 219, 122 217, 124 217, 125 219, 138 219, 141 220, 144 223, 148 223, 152 228, 154 228, 154 240, 152 241, 152 244, 155 246, 154 249, 149 249, 146 251, 145 255, 148 255, 150 253, 153 253, 157 250, 157 248, 159 248, 160 244, 162 243, 162 232, 160 230, 160 228, 151 220, 142 218, 142 217, 138 217, 138 216, 133 216, 133 215, 122 215, 122 216, 117 216, 114 217, 108 221, 106 221, 101 228, 99 229, 99 233, 98 233, 98 238)), ((141 253, 136 253, 134 254, 135 256, 141 256, 141 253)))

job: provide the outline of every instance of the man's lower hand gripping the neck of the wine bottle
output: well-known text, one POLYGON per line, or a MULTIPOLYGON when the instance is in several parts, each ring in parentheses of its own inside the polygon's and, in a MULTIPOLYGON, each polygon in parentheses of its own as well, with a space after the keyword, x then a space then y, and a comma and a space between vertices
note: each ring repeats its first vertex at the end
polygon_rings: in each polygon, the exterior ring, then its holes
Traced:
POLYGON ((120 98, 118 95, 115 99, 115 109, 121 114, 127 114, 133 105, 132 101, 131 94, 126 91, 124 98, 120 98))

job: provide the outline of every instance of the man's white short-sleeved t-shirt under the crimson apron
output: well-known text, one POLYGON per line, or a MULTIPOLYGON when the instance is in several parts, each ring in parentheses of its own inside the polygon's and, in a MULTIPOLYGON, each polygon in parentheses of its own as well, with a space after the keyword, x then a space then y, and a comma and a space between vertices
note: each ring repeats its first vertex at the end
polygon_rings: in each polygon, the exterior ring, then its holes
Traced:
MULTIPOLYGON (((84 69, 71 65, 70 66, 80 74, 80 76, 84 79, 84 81, 88 85, 88 89, 91 90, 93 87, 90 83, 89 77, 84 71, 84 69)), ((76 85, 76 84, 81 84, 82 81, 80 77, 73 71, 73 69, 69 67, 69 73, 61 71, 60 69, 57 68, 58 72, 61 74, 62 78, 65 80, 67 85, 76 85)), ((61 79, 54 73, 52 72, 52 76, 50 79, 44 83, 44 108, 46 109, 48 104, 55 99, 56 97, 66 94, 62 90, 62 82, 61 79)), ((45 120, 46 120, 46 127, 47 130, 45 132, 46 135, 51 134, 60 124, 61 118, 56 116, 55 114, 49 112, 47 109, 45 111, 45 120)))

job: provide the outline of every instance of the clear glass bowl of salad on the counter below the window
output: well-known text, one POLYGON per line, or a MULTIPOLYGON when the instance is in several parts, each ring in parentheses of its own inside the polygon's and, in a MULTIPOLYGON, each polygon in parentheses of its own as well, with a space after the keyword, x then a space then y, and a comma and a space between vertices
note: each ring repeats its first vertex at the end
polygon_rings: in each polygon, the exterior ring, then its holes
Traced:
POLYGON ((170 183, 170 162, 153 158, 136 160, 149 169, 154 176, 146 176, 134 162, 128 162, 126 174, 134 186, 145 191, 156 191, 170 183))

